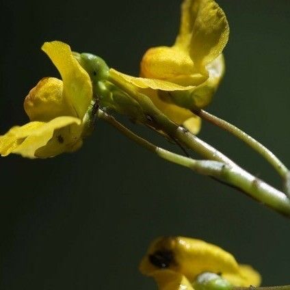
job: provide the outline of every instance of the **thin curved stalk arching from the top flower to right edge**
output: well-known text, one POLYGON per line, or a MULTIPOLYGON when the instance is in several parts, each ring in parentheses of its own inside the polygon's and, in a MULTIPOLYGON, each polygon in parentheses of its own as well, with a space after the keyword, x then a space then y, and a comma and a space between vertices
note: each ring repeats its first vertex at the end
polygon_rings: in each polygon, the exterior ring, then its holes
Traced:
POLYGON ((194 114, 200 116, 202 120, 207 120, 215 126, 228 131, 229 133, 233 134, 235 137, 238 137, 239 140, 245 142, 248 146, 254 149, 257 153, 259 153, 263 158, 265 158, 273 167, 274 169, 282 176, 283 179, 286 179, 286 176, 289 172, 288 168, 272 153, 269 149, 263 146, 261 143, 256 141, 253 137, 248 135, 247 133, 243 132, 241 129, 235 127, 233 124, 218 118, 217 116, 213 116, 209 112, 205 110, 195 110, 193 111, 194 114))

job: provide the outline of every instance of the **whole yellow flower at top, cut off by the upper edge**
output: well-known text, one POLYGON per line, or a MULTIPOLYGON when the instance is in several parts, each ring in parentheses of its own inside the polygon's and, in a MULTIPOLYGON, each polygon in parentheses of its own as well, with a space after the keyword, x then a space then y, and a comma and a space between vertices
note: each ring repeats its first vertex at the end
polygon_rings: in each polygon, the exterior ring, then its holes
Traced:
POLYGON ((174 45, 149 49, 142 58, 141 77, 114 69, 111 77, 131 83, 174 122, 185 122, 187 129, 198 133, 200 119, 191 110, 207 106, 218 88, 228 34, 226 16, 215 1, 185 0, 174 45))

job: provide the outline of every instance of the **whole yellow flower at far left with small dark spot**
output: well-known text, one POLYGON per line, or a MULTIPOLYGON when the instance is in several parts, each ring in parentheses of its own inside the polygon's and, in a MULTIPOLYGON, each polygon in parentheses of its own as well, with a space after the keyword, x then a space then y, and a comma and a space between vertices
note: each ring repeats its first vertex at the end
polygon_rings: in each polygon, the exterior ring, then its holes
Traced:
POLYGON ((62 76, 42 79, 25 98, 31 122, 0 136, 0 153, 51 157, 77 150, 82 144, 83 117, 92 100, 92 83, 68 44, 45 42, 42 50, 62 76))

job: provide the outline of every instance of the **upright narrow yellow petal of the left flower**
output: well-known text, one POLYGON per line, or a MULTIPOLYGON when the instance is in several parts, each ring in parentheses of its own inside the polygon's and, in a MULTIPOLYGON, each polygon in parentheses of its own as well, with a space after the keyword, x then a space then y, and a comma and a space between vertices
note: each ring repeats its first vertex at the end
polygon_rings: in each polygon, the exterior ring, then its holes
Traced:
POLYGON ((49 55, 64 81, 64 96, 82 119, 92 100, 92 82, 68 44, 60 41, 45 42, 42 50, 49 55))

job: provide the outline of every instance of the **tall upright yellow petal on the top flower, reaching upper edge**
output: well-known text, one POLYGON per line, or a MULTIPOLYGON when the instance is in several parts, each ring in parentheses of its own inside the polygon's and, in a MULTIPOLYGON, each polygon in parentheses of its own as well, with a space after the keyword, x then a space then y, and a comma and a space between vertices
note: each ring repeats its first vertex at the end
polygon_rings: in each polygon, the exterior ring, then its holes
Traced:
POLYGON ((189 51, 195 64, 213 61, 228 42, 226 15, 213 0, 185 0, 181 10, 181 27, 175 46, 189 51))

